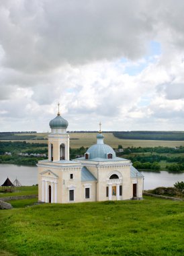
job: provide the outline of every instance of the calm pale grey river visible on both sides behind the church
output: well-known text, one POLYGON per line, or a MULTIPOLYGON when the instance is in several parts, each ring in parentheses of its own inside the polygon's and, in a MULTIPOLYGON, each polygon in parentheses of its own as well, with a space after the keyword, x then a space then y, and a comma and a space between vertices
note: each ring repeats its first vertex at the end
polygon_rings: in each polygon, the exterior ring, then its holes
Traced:
MULTIPOLYGON (((173 187, 177 181, 184 181, 184 173, 173 174, 162 172, 141 172, 144 175, 144 189, 156 187, 173 187)), ((37 167, 18 166, 15 164, 0 164, 0 185, 9 177, 13 183, 17 178, 21 185, 31 186, 38 184, 37 167)))

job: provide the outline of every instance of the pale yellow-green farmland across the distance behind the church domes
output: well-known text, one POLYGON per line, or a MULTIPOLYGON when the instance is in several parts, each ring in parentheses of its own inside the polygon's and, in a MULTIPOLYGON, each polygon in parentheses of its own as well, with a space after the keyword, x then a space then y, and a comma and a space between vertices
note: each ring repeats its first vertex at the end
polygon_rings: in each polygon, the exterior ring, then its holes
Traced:
MULTIPOLYGON (((19 133, 16 134, 20 136, 19 133)), ((29 135, 29 133, 24 133, 24 135, 29 135)), ((26 142, 30 143, 47 143, 45 140, 48 136, 48 133, 32 133, 34 135, 34 139, 25 139, 26 142), (40 137, 44 139, 40 139, 40 137)), ((69 133, 71 141, 71 148, 80 148, 81 146, 85 148, 89 148, 92 144, 96 143, 97 133, 69 133)), ((128 147, 175 147, 175 146, 184 146, 184 141, 165 141, 165 140, 142 140, 142 139, 118 139, 118 137, 114 137, 113 133, 103 133, 105 139, 104 143, 108 144, 112 148, 118 148, 118 145, 122 145, 123 148, 128 147)), ((4 141, 1 139, 1 141, 4 141)), ((14 141, 11 139, 11 141, 14 141)), ((15 140, 17 141, 17 139, 15 140)))

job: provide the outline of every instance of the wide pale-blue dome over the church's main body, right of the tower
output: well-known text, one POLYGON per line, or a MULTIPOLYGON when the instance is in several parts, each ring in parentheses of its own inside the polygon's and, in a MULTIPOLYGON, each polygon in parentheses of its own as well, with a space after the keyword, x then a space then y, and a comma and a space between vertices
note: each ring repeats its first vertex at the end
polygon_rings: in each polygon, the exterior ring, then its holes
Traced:
POLYGON ((89 153, 89 159, 93 159, 93 158, 107 159, 107 154, 112 154, 112 158, 116 157, 116 153, 113 151, 113 149, 106 144, 95 144, 91 146, 86 153, 89 153))

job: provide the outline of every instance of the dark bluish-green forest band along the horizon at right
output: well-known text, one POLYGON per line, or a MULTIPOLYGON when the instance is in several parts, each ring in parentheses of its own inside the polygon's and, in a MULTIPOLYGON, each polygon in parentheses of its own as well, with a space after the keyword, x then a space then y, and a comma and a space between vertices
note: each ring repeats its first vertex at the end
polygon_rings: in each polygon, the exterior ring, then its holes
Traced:
POLYGON ((184 141, 183 131, 113 131, 119 139, 150 139, 184 141))

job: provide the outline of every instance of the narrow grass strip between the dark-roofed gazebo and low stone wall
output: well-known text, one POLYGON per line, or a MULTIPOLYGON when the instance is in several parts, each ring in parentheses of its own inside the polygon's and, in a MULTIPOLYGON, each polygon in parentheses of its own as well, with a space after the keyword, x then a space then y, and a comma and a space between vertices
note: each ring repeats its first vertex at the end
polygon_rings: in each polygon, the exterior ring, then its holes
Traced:
POLYGON ((11 193, 3 193, 0 191, 0 197, 13 197, 15 195, 38 195, 38 186, 17 187, 16 191, 11 193))

